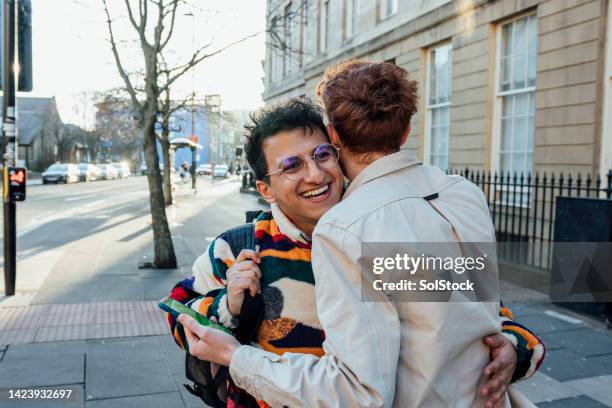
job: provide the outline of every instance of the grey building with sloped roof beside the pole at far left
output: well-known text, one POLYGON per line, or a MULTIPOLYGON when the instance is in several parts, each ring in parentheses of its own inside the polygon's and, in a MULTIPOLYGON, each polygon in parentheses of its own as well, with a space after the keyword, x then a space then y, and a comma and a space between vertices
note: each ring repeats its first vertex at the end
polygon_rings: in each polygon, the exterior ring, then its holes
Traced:
POLYGON ((18 159, 33 171, 42 171, 61 160, 66 131, 55 97, 17 98, 18 159))

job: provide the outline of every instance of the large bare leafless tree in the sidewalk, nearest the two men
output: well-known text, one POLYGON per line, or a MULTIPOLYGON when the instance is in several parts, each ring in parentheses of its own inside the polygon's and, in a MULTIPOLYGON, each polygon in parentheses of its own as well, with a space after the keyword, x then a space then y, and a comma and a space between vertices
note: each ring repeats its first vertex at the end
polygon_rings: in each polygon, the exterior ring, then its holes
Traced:
MULTIPOLYGON (((212 49, 211 44, 206 44, 195 50, 184 62, 168 68, 166 64, 163 64, 163 55, 164 49, 166 49, 173 36, 177 10, 181 5, 189 7, 193 7, 193 5, 186 0, 124 0, 123 9, 127 13, 131 27, 137 34, 137 43, 144 60, 144 69, 134 75, 134 73, 128 72, 121 59, 119 52, 121 41, 115 38, 113 18, 111 18, 107 0, 101 1, 106 13, 109 42, 117 70, 123 79, 125 90, 134 108, 137 126, 142 130, 147 168, 158 169, 159 157, 156 148, 155 125, 161 114, 163 129, 163 123, 169 123, 172 113, 168 114, 169 111, 166 108, 160 109, 160 105, 162 105, 162 108, 164 106, 164 103, 160 103, 160 101, 169 101, 170 88, 196 65, 262 33, 253 33, 212 51, 209 51, 209 49, 212 49)), ((300 7, 298 10, 302 9, 303 7, 300 7)), ((277 35, 276 30, 277 27, 266 29, 266 32, 272 32, 271 37, 274 39, 274 46, 288 49, 288 45, 283 43, 283 37, 277 35)), ((167 106, 170 106, 170 104, 167 106)), ((169 133, 166 133, 167 135, 169 133)), ((169 143, 164 143, 164 135, 162 135, 162 151, 164 157, 167 157, 166 152, 169 151, 169 143)), ((164 166, 164 169, 166 167, 168 166, 164 166)), ((164 174, 169 180, 169 169, 164 171, 164 174)), ((147 178, 153 221, 154 265, 157 268, 174 268, 176 267, 176 255, 164 206, 162 176, 158 171, 149 171, 147 178)))

